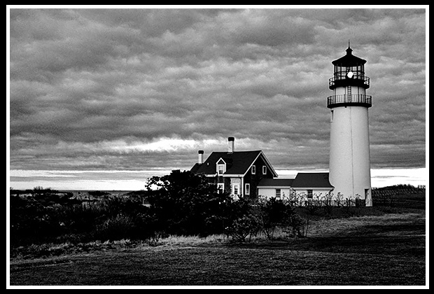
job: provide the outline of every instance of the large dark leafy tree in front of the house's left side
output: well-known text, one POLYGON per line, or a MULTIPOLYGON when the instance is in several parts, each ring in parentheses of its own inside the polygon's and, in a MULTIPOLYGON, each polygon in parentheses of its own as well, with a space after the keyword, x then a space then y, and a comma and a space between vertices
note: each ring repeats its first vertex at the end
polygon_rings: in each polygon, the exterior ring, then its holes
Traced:
POLYGON ((204 175, 173 170, 146 183, 154 230, 176 235, 210 235, 223 232, 226 193, 218 193, 204 175))

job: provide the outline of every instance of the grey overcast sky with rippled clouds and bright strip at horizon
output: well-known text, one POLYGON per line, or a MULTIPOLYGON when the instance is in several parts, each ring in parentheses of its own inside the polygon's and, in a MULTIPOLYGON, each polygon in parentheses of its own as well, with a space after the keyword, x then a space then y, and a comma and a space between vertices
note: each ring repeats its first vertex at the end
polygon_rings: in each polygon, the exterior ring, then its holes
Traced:
POLYGON ((367 60, 372 187, 428 182, 428 6, 8 6, 9 188, 141 190, 213 151, 328 171, 332 60, 367 60))

